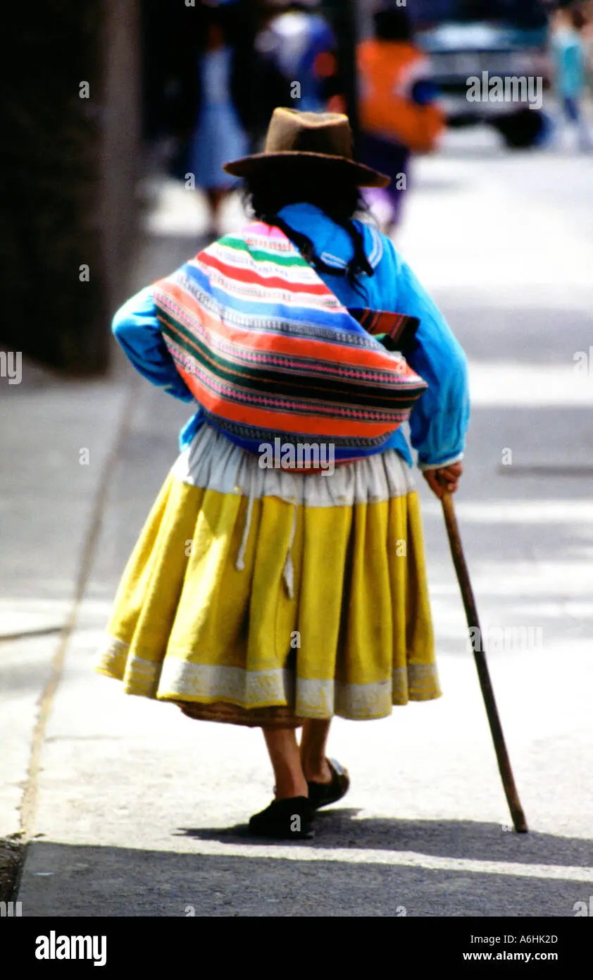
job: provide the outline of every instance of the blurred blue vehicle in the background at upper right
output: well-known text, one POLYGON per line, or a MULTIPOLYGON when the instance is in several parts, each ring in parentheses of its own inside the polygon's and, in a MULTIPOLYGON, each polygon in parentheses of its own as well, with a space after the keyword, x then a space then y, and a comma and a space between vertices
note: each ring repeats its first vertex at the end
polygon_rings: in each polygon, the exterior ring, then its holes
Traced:
MULTIPOLYGON (((549 5, 548 5, 549 7, 549 5)), ((548 13, 540 0, 409 0, 417 41, 431 59, 433 80, 453 126, 489 123, 511 147, 538 143, 547 128, 541 106, 525 99, 472 99, 470 78, 529 79, 550 87, 548 13)), ((502 89, 501 89, 502 91, 502 89)), ((515 95, 519 92, 516 87, 515 95)))

